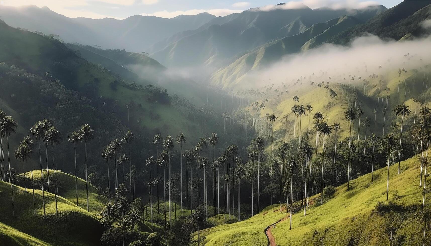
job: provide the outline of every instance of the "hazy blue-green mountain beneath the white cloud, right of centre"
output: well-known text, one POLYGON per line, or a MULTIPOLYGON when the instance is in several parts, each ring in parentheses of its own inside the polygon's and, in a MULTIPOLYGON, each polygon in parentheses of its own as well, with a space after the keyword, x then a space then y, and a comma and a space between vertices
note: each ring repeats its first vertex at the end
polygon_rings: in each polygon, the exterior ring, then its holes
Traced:
POLYGON ((365 22, 384 10, 384 6, 364 9, 310 9, 306 6, 269 11, 249 9, 235 15, 214 18, 196 30, 175 34, 153 45, 150 54, 168 67, 201 64, 220 67, 238 53, 299 34, 313 24, 344 15, 355 16, 359 22, 365 22))

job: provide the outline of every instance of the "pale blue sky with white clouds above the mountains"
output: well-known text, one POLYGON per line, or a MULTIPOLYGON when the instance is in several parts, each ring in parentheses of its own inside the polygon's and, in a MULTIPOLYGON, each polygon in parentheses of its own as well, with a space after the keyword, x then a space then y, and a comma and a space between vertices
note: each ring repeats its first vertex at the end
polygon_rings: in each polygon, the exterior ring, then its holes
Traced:
MULTIPOLYGON (((286 0, 285 0, 286 1, 286 0)), ((125 19, 129 16, 159 16, 173 18, 175 16, 195 15, 209 12, 215 16, 227 16, 234 12, 266 6, 273 7, 282 2, 279 0, 0 0, 2 5, 48 6, 51 10, 71 17, 116 18, 125 19)), ((287 2, 287 1, 286 1, 287 2)), ((305 4, 310 8, 328 6, 332 8, 360 8, 382 4, 387 8, 397 5, 401 0, 295 0, 287 2, 288 6, 297 7, 305 4)))

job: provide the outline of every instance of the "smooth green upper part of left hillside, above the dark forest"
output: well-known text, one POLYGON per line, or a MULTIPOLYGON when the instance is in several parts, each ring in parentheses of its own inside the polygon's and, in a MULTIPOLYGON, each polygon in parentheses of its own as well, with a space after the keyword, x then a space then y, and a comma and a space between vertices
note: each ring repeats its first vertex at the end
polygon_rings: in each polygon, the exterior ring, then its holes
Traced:
MULTIPOLYGON (((136 115, 147 115, 138 125, 150 131, 165 134, 193 136, 194 124, 167 102, 159 99, 160 91, 153 87, 141 88, 122 82, 105 69, 101 69, 75 55, 61 42, 50 37, 11 28, 0 22, 0 60, 17 65, 30 73, 48 75, 47 79, 59 79, 68 89, 78 90, 89 97, 116 100, 120 106, 139 104, 136 115), (175 121, 176 124, 172 124, 175 121)), ((167 96, 167 95, 166 95, 167 96)))

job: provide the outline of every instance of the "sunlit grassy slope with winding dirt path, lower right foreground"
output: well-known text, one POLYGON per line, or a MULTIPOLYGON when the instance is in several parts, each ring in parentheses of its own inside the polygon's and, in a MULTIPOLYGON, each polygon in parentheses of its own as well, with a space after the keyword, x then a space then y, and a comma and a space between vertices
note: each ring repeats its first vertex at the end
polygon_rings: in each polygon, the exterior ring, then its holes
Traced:
MULTIPOLYGON (((396 231, 397 238, 404 238, 406 245, 422 245, 423 224, 415 214, 422 206, 418 158, 401 162, 401 170, 397 174, 397 165, 390 167, 389 199, 409 208, 396 231)), ((377 202, 386 200, 386 174, 386 168, 375 171, 374 184, 371 174, 359 177, 350 182, 349 191, 347 184, 337 187, 333 198, 311 206, 305 217, 303 210, 294 214, 292 230, 289 219, 281 221, 272 229, 277 245, 389 245, 386 222, 375 212, 377 202)), ((319 194, 315 198, 319 199, 319 194)), ((265 228, 288 215, 277 211, 276 205, 267 210, 245 221, 203 230, 206 245, 266 245, 265 228)), ((426 243, 431 243, 431 237, 426 243)))

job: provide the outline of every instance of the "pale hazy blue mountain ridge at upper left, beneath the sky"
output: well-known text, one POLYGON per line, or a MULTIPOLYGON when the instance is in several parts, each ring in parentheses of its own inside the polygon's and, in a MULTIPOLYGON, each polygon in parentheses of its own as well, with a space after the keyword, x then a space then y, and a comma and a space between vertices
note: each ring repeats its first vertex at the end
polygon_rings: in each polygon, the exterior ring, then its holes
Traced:
POLYGON ((6 24, 44 34, 58 34, 69 43, 97 45, 104 49, 145 52, 150 45, 178 31, 194 30, 214 19, 209 13, 166 19, 156 16, 130 16, 126 19, 69 18, 48 7, 2 6, 0 19, 6 24))

